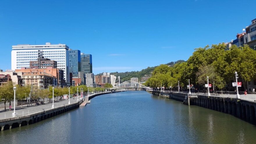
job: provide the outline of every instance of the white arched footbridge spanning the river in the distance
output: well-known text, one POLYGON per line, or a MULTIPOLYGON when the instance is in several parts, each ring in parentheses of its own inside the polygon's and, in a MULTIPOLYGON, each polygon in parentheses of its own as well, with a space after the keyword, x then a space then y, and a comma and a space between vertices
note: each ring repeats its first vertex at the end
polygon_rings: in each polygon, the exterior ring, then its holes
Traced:
POLYGON ((147 89, 147 88, 148 87, 144 86, 143 84, 137 83, 135 81, 125 81, 111 89, 112 90, 141 90, 141 89, 147 89))

